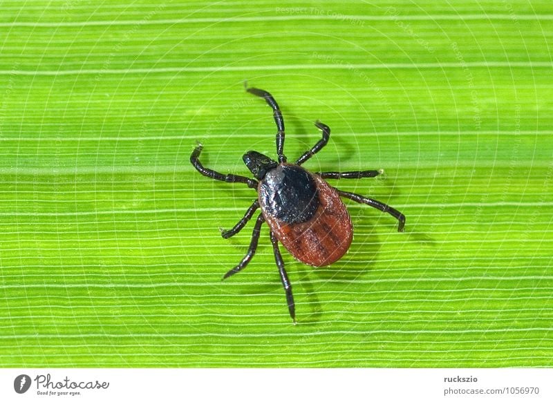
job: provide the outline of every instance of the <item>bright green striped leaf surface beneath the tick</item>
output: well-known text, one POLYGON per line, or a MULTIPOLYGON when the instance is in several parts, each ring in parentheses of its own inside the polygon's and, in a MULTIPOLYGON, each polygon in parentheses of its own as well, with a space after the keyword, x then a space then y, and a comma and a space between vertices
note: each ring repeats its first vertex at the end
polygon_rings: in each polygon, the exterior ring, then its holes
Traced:
POLYGON ((550 1, 0 2, 2 367, 503 367, 553 363, 550 1), (284 253, 254 199, 188 162, 246 174, 332 128, 319 170, 391 204, 347 202, 350 252, 284 253))

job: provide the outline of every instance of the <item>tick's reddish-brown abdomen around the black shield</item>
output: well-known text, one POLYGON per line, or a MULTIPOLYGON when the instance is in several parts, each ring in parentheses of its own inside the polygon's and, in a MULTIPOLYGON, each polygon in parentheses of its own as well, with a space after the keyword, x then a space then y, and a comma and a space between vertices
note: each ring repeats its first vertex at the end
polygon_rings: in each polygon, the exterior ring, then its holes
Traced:
MULTIPOLYGON (((353 227, 344 202, 318 175, 312 175, 317 183, 319 207, 306 222, 285 223, 263 211, 263 217, 290 254, 313 267, 336 262, 348 251, 353 238, 353 227)), ((260 198, 263 205, 263 200, 260 198)))

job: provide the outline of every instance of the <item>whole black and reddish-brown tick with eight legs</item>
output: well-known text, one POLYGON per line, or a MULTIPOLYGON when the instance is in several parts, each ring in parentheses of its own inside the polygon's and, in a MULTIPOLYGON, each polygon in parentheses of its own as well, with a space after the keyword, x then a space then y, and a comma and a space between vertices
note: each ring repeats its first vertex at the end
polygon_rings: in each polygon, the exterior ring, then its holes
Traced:
POLYGON ((279 105, 266 90, 246 88, 247 92, 265 99, 272 108, 274 122, 277 124, 277 160, 256 151, 248 151, 242 157, 247 169, 255 179, 232 173, 218 173, 201 164, 200 153, 203 146, 198 144, 190 156, 190 162, 198 172, 228 183, 243 183, 257 191, 257 198, 252 202, 241 220, 232 229, 222 230, 221 236, 227 239, 241 231, 254 213, 261 209, 256 218, 250 247, 245 257, 223 279, 244 269, 252 260, 261 225, 267 222, 270 238, 277 262, 281 282, 286 294, 288 311, 294 324, 296 313, 292 285, 284 269, 284 262, 279 249, 279 242, 297 260, 313 267, 322 267, 336 262, 344 256, 353 238, 353 226, 346 206, 340 197, 349 198, 361 204, 367 204, 382 212, 389 213, 399 221, 397 231, 403 231, 405 216, 383 202, 363 195, 341 191, 330 186, 326 179, 360 179, 374 178, 382 171, 348 171, 312 173, 301 165, 310 157, 321 151, 330 138, 330 128, 317 120, 315 126, 322 133, 322 138, 310 150, 306 151, 294 163, 287 162, 284 155, 284 120, 279 105))

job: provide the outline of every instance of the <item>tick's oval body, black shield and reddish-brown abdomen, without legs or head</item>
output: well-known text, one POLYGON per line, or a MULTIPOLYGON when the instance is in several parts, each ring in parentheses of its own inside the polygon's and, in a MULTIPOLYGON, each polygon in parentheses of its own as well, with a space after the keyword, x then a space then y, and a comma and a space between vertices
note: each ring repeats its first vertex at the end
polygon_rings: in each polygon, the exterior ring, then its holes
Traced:
POLYGON ((259 182, 263 218, 290 254, 314 267, 344 256, 353 228, 335 189, 294 164, 279 164, 259 182))

